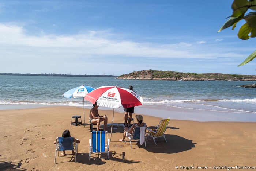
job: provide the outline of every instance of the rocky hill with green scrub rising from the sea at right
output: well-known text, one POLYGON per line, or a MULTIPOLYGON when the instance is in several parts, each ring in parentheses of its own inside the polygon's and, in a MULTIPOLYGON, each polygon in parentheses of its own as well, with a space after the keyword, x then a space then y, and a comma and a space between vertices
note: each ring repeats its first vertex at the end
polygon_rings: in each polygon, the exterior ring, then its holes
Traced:
POLYGON ((123 74, 116 79, 144 79, 144 80, 170 80, 170 81, 256 81, 256 75, 220 74, 220 73, 181 73, 176 71, 143 70, 123 74))

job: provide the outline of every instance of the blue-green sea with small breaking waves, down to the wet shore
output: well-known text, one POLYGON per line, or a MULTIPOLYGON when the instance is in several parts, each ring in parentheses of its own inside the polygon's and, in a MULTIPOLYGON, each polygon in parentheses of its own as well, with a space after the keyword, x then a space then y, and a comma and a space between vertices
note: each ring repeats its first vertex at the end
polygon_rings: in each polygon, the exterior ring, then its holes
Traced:
MULTIPOLYGON (((52 105, 83 107, 83 98, 64 98, 63 93, 82 84, 93 88, 132 85, 144 100, 143 106, 136 106, 135 113, 196 121, 256 122, 256 88, 240 87, 253 83, 0 75, 0 110, 52 105)), ((85 106, 92 105, 85 101, 85 106)), ((123 109, 117 111, 122 113, 123 109)))

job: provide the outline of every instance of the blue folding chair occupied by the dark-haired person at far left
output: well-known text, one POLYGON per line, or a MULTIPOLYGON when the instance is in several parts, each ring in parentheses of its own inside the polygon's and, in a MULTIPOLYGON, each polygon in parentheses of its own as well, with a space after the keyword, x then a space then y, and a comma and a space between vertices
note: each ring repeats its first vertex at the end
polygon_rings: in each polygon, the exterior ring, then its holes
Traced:
POLYGON ((58 156, 59 156, 59 151, 63 151, 63 150, 74 150, 76 153, 75 155, 75 162, 76 162, 76 155, 77 155, 77 143, 73 142, 73 140, 75 139, 75 137, 67 137, 67 138, 63 138, 63 137, 57 137, 56 138, 56 149, 55 149, 55 159, 54 162, 56 164, 56 154, 58 152, 58 156))

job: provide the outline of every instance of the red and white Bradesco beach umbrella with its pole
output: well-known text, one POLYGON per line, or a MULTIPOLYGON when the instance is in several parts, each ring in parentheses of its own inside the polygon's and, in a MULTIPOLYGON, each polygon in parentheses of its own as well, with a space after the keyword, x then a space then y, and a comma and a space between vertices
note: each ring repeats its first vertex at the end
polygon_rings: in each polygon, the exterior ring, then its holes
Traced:
POLYGON ((110 141, 113 128, 114 108, 130 108, 143 104, 142 97, 132 90, 117 86, 102 86, 84 96, 84 99, 98 106, 113 108, 110 141))

